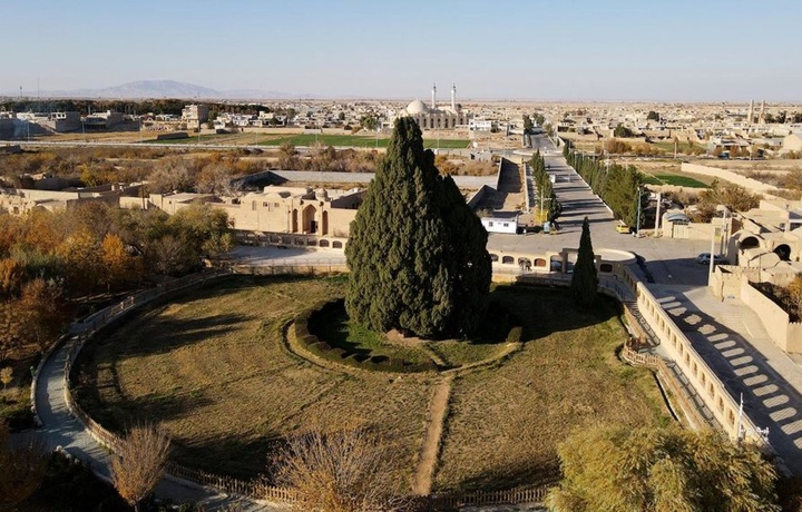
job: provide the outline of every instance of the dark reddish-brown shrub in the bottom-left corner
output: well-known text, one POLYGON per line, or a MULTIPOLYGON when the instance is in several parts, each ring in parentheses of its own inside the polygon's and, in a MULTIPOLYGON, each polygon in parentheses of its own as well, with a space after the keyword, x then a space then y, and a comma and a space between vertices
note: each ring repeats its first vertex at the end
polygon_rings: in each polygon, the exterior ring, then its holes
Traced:
POLYGON ((0 510, 13 508, 39 489, 47 469, 46 453, 35 436, 12 447, 8 425, 0 421, 0 510))

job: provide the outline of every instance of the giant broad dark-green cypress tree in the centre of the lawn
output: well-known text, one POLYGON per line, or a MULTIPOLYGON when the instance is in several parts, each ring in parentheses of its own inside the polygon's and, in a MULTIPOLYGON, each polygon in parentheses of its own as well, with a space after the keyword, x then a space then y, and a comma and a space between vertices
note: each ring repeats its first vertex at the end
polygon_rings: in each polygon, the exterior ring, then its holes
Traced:
POLYGON ((487 308, 486 246, 481 221, 438 173, 418 125, 398 119, 345 248, 351 318, 380 332, 469 333, 487 308))

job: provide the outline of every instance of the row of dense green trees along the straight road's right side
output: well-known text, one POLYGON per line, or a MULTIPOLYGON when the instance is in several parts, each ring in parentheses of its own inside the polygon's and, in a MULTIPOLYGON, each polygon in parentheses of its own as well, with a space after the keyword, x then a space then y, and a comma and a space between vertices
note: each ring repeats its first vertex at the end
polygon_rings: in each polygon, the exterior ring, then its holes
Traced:
POLYGON ((607 166, 600 163, 596 155, 575 151, 570 141, 566 141, 563 147, 563 155, 568 165, 574 167, 593 191, 610 207, 617 219, 629 226, 636 225, 638 208, 643 215, 647 197, 644 197, 645 191, 640 188, 643 175, 635 167, 618 164, 607 166), (640 200, 638 194, 642 195, 640 200))

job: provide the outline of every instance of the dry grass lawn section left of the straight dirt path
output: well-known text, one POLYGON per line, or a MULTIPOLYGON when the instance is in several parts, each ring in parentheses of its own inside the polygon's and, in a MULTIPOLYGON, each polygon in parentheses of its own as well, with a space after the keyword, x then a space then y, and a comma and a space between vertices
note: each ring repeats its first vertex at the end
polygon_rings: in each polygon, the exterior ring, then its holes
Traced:
POLYGON ((284 322, 330 299, 342 280, 237 278, 176 297, 104 338, 84 367, 81 395, 101 423, 123 430, 158 419, 179 462, 241 477, 264 471, 271 444, 310 425, 376 426, 409 475, 429 401, 426 378, 355 377, 287 354, 284 322), (97 386, 97 387, 95 387, 97 386))

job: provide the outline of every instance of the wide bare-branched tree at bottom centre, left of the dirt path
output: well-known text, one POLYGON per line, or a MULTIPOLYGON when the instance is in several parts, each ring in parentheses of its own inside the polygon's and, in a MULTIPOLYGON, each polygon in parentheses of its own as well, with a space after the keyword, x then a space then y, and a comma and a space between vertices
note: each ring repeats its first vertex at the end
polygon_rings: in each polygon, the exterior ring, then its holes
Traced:
POLYGON ((280 451, 275 480, 296 491, 296 510, 399 510, 407 500, 395 462, 381 439, 363 429, 315 431, 280 451))

